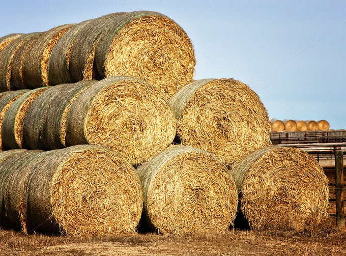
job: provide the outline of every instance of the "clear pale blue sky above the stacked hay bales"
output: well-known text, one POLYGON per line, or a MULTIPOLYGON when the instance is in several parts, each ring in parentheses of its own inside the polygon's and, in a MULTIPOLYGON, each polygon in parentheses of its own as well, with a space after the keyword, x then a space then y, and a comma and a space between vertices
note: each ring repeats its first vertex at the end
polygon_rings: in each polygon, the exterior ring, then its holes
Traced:
POLYGON ((193 42, 195 79, 235 78, 270 118, 346 129, 346 1, 0 0, 0 10, 0 37, 113 12, 163 13, 193 42))

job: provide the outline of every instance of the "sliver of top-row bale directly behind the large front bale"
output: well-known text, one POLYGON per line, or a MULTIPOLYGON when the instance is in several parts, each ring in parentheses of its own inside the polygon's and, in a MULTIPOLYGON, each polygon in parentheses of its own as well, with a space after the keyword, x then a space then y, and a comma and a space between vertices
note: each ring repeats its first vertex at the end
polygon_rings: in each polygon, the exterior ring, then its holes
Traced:
POLYGON ((70 72, 76 81, 97 79, 94 66, 96 45, 103 31, 113 22, 121 20, 125 13, 111 13, 91 20, 76 36, 70 53, 70 72))

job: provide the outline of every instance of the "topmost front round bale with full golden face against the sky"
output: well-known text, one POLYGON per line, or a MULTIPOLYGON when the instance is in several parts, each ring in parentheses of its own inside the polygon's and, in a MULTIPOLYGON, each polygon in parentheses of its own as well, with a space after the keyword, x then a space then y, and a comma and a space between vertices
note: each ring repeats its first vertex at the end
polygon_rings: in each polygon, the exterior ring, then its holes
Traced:
POLYGON ((193 81, 193 45, 175 21, 156 12, 138 11, 109 26, 96 48, 100 75, 132 76, 159 87, 169 99, 193 81))

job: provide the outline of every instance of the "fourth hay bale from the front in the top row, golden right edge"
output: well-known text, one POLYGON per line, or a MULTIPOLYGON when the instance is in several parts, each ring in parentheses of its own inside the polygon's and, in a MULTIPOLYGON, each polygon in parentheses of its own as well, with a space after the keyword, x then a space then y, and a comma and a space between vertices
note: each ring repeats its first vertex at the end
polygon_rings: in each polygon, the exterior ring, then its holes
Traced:
POLYGON ((22 79, 25 88, 35 89, 48 86, 48 61, 50 53, 56 42, 59 41, 72 26, 74 26, 74 24, 61 25, 43 32, 36 38, 30 47, 28 47, 22 64, 22 79))

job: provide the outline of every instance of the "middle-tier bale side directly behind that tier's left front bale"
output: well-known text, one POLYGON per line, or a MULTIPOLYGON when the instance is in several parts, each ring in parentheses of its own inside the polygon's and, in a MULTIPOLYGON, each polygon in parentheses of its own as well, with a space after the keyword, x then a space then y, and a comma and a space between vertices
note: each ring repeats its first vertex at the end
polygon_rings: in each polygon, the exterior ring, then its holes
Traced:
POLYGON ((65 143, 65 125, 73 101, 95 80, 63 83, 40 94, 27 108, 23 120, 23 138, 30 149, 61 149, 65 143))

